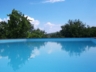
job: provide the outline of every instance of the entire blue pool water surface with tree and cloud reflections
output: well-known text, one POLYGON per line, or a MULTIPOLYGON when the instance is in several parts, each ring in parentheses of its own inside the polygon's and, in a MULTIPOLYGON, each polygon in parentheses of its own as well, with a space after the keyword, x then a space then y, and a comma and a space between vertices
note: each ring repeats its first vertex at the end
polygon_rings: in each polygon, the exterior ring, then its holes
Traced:
POLYGON ((96 72, 95 39, 0 41, 0 72, 96 72))

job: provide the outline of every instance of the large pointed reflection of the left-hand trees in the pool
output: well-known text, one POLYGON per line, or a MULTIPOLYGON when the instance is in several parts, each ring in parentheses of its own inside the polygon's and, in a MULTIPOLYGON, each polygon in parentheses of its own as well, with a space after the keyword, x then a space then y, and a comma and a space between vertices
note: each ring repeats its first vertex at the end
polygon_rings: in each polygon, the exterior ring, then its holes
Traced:
POLYGON ((0 56, 8 57, 14 70, 19 69, 30 57, 32 51, 44 46, 45 42, 25 42, 0 44, 0 56))

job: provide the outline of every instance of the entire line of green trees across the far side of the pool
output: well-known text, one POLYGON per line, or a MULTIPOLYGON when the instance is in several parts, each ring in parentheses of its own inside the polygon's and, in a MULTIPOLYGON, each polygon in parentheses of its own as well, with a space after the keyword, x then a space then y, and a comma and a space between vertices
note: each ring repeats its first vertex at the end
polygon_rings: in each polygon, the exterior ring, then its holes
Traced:
POLYGON ((69 20, 55 33, 46 33, 35 29, 28 17, 15 9, 8 14, 9 20, 0 22, 0 39, 12 38, 63 38, 63 37, 96 37, 96 27, 90 27, 79 19, 69 20))

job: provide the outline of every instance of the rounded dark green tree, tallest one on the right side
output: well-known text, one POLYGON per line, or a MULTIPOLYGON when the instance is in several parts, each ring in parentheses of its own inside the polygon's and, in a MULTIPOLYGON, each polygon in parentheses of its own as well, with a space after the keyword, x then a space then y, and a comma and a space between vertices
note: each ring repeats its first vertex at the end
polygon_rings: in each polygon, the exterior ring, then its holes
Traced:
POLYGON ((83 37, 84 30, 86 29, 85 24, 80 20, 69 20, 68 23, 61 26, 62 30, 60 31, 63 37, 83 37))

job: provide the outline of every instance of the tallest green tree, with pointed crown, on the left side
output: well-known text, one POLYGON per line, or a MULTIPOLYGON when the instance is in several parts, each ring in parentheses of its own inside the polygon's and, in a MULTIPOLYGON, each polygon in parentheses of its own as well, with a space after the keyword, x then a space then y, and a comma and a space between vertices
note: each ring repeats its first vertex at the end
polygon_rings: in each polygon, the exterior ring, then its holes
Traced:
POLYGON ((8 20, 8 38, 26 38, 33 29, 28 18, 15 9, 8 16, 10 18, 8 20))

